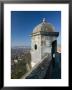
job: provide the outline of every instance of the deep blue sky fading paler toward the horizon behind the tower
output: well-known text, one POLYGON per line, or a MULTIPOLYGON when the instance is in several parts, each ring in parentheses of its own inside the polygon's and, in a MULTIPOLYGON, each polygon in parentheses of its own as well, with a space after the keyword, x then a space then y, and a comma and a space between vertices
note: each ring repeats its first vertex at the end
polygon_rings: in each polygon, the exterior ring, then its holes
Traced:
MULTIPOLYGON (((11 12, 11 43, 12 46, 30 46, 29 36, 34 27, 42 22, 42 19, 52 23, 55 31, 61 33, 60 11, 12 11, 11 12)), ((61 36, 58 37, 60 44, 61 36)))

